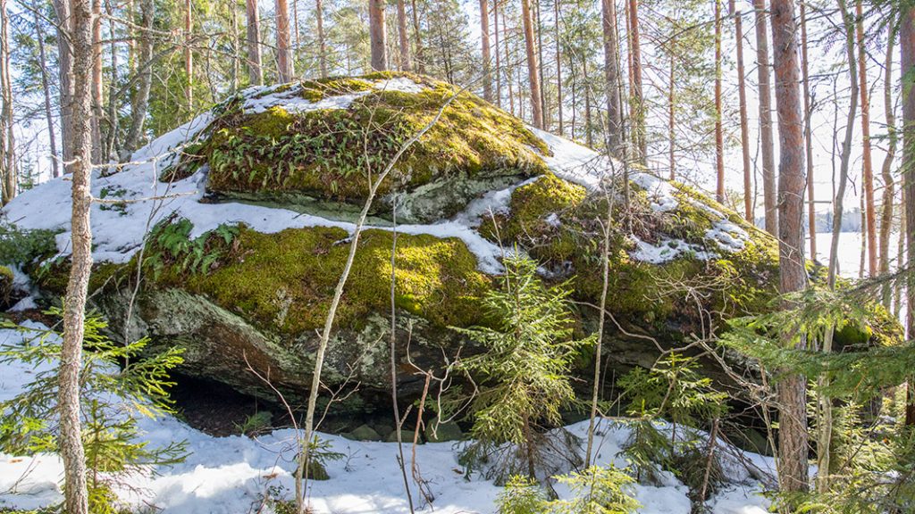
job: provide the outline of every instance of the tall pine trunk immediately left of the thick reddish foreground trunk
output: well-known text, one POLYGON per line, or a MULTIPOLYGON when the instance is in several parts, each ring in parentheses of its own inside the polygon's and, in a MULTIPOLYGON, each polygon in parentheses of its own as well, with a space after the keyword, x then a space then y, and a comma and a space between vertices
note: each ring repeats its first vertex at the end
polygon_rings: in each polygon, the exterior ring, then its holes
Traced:
POLYGON ((756 53, 759 75, 759 153, 762 155, 762 195, 766 209, 766 231, 779 231, 775 204, 775 144, 772 140, 772 93, 769 81, 769 36, 766 34, 766 0, 753 0, 756 9, 756 53))

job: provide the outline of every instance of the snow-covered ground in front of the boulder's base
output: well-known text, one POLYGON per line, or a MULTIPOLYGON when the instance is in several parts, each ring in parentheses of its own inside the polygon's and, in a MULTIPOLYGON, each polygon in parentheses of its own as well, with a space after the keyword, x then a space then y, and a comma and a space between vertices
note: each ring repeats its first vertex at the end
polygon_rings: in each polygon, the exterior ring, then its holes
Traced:
MULTIPOLYGON (((32 324, 31 327, 40 327, 32 324)), ((0 330, 0 351, 21 344, 24 336, 11 329, 0 330)), ((38 369, 20 364, 0 365, 0 401, 22 391, 38 369)), ((293 490, 296 434, 292 429, 275 431, 256 439, 245 436, 213 437, 203 434, 172 416, 140 418, 141 439, 152 446, 174 441, 188 442, 188 458, 176 466, 163 466, 149 477, 127 479, 119 490, 121 498, 135 509, 155 508, 164 514, 240 514, 255 512, 265 495, 293 490)), ((573 434, 587 434, 587 422, 567 427, 573 434)), ((627 429, 603 421, 596 439, 597 464, 625 466, 619 451, 627 429)), ((316 514, 364 514, 409 512, 404 484, 397 466, 394 443, 362 443, 321 434, 332 449, 346 455, 328 463, 330 479, 309 482, 309 502, 316 514)), ((501 487, 480 477, 464 477, 458 464, 457 444, 421 444, 416 464, 435 496, 421 511, 450 513, 494 512, 494 500, 501 487)), ((733 452, 732 449, 727 449, 733 452)), ((409 452, 407 453, 409 455, 409 452)), ((715 514, 763 514, 767 501, 759 496, 760 485, 750 477, 741 459, 771 472, 770 458, 742 454, 726 455, 725 468, 732 481, 709 506, 715 514)), ((407 456, 409 459, 410 457, 407 456)), ((62 497, 63 467, 57 455, 11 456, 0 454, 0 509, 38 509, 62 497)), ((423 502, 416 494, 417 505, 423 502)), ((560 495, 568 491, 557 486, 560 495)), ((688 514, 687 488, 676 478, 666 477, 660 487, 636 485, 632 492, 644 514, 688 514)))

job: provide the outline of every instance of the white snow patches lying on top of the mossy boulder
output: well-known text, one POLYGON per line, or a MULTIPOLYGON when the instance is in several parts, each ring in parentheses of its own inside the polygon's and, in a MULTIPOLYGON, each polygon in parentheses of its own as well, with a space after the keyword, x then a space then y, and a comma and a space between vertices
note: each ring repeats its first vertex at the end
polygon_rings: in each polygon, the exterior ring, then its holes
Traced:
MULTIPOLYGON (((355 98, 368 93, 361 91, 309 102, 300 96, 301 84, 293 84, 285 89, 281 86, 255 87, 242 91, 245 98, 244 109, 262 112, 274 105, 283 105, 293 112, 345 109, 355 98)), ((373 88, 375 91, 416 92, 424 90, 426 86, 408 78, 398 77, 375 80, 373 88)), ((194 224, 192 237, 213 230, 222 223, 245 223, 253 230, 265 233, 304 227, 338 227, 350 233, 355 229, 355 226, 347 221, 331 220, 287 209, 232 202, 201 203, 200 199, 204 195, 206 185, 206 166, 183 180, 171 184, 160 182, 158 177, 162 171, 177 161, 186 145, 193 143, 200 134, 206 133, 212 120, 213 114, 204 112, 191 122, 164 134, 136 151, 131 163, 124 165, 117 173, 104 176, 109 170, 96 170, 92 178, 93 196, 109 200, 120 198, 128 202, 117 206, 117 209, 113 209, 111 205, 93 203, 93 257, 96 261, 129 261, 143 246, 148 230, 156 222, 171 215, 187 218, 194 224)), ((558 177, 596 190, 603 180, 612 177, 621 169, 621 165, 616 161, 585 146, 533 127, 531 130, 549 146, 553 155, 544 155, 544 161, 558 177)), ((652 209, 659 213, 676 209, 678 200, 673 196, 674 187, 670 183, 642 172, 631 174, 631 179, 648 193, 652 209)), ((511 192, 529 182, 523 181, 511 187, 491 191, 482 198, 471 201, 463 212, 451 220, 425 225, 402 225, 398 230, 409 234, 458 238, 477 256, 480 271, 501 273, 501 249, 481 237, 474 229, 490 212, 505 212, 508 209, 511 192)), ((747 233, 715 209, 705 204, 700 205, 719 218, 714 228, 705 234, 705 238, 716 241, 716 248, 722 252, 741 249, 748 240, 747 233)), ((70 253, 70 181, 67 177, 53 179, 40 187, 24 191, 2 210, 0 217, 23 230, 59 230, 58 250, 61 255, 70 253)), ((558 219, 553 217, 550 222, 558 222, 558 219)), ((366 228, 390 230, 385 227, 366 228)), ((651 245, 637 240, 637 244, 638 249, 632 253, 632 257, 645 262, 667 262, 687 251, 694 252, 700 258, 713 255, 683 241, 662 240, 658 245, 651 245)))

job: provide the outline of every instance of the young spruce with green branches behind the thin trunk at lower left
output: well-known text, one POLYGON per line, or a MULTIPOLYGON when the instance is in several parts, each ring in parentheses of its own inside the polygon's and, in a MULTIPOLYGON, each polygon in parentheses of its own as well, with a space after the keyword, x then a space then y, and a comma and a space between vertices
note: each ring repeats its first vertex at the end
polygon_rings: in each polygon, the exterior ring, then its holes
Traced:
MULTIPOLYGON (((48 316, 61 316, 59 308, 48 316)), ((37 371, 15 398, 0 402, 0 452, 33 455, 58 450, 57 363, 61 335, 48 328, 3 325, 27 335, 22 345, 0 347, 0 362, 23 362, 37 371)), ((152 472, 152 466, 178 463, 183 442, 151 447, 140 441, 137 416, 174 412, 168 373, 182 362, 179 348, 146 355, 147 338, 117 345, 103 335, 107 323, 87 316, 81 369, 82 444, 85 448, 92 512, 116 512, 113 486, 124 477, 152 472), (141 354, 143 359, 139 359, 141 354)))

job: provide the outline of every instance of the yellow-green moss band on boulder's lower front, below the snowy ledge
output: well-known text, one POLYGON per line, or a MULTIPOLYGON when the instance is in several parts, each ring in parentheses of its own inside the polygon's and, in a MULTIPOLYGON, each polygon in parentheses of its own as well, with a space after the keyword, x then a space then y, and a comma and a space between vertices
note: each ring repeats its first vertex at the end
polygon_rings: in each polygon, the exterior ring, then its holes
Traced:
MULTIPOLYGON (((231 253, 209 273, 177 265, 158 284, 205 294, 255 326, 302 334, 323 326, 329 300, 346 261, 349 234, 331 228, 288 229, 264 234, 242 228, 231 253)), ((359 326, 390 304, 392 233, 366 230, 337 313, 340 327, 359 326)), ((463 241, 400 234, 395 303, 404 311, 446 327, 479 323, 479 298, 490 278, 463 241)))

